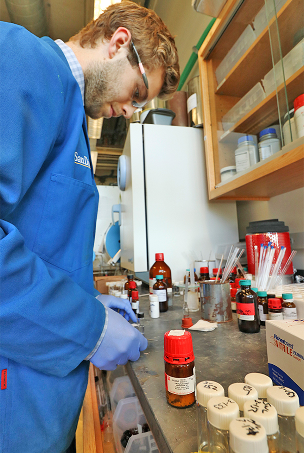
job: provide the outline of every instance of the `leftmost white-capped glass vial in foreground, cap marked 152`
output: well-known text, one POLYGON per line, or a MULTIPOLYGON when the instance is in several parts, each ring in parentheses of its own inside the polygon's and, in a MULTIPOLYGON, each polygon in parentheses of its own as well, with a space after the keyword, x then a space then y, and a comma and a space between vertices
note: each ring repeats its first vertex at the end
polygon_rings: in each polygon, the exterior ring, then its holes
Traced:
POLYGON ((214 396, 224 396, 224 388, 214 381, 202 381, 197 385, 198 453, 209 451, 207 403, 214 396))

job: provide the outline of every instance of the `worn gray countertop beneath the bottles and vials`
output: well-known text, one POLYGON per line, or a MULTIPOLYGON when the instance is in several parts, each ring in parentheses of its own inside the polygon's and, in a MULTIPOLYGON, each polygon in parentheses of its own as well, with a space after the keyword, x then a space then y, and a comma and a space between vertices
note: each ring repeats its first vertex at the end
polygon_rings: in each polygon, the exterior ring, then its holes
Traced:
MULTIPOLYGON (((148 296, 140 297, 144 312, 144 334, 147 349, 137 362, 128 362, 126 369, 139 398, 145 417, 161 453, 191 453, 197 451, 196 406, 180 409, 167 403, 164 379, 164 333, 181 328, 182 297, 173 297, 173 306, 160 318, 151 319, 148 296)), ((195 324, 200 311, 191 313, 195 324)), ((197 383, 204 380, 219 382, 225 389, 234 382, 244 382, 250 372, 268 373, 265 327, 259 333, 239 331, 236 314, 233 321, 217 324, 211 332, 193 331, 197 383)))

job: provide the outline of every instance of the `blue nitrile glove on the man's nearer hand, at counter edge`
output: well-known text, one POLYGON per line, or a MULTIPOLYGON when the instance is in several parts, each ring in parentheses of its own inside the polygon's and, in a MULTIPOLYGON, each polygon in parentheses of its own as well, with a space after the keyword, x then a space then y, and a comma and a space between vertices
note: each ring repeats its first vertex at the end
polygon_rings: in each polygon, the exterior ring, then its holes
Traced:
POLYGON ((99 369, 114 370, 128 360, 138 360, 148 346, 146 338, 117 312, 108 309, 105 335, 90 362, 99 369))

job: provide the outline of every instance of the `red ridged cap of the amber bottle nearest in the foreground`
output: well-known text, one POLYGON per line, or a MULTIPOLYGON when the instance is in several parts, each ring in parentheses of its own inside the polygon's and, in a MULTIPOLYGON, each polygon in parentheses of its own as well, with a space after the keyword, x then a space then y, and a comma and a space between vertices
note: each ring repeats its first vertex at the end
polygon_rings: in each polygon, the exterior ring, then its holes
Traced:
POLYGON ((192 336, 184 330, 182 335, 171 334, 169 330, 164 335, 164 360, 173 365, 185 365, 194 361, 192 336))

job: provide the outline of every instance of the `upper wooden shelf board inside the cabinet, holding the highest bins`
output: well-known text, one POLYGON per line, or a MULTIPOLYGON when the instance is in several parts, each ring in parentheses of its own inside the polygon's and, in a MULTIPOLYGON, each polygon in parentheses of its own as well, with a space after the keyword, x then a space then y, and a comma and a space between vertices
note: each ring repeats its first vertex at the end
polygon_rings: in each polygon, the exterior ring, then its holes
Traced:
MULTIPOLYGON (((304 23, 303 0, 287 0, 277 13, 283 57, 293 48, 293 35, 304 23)), ((276 26, 275 17, 270 26, 276 26)), ((227 33, 227 31, 226 31, 227 33)), ((226 34, 225 33, 225 34, 226 34)), ((216 94, 243 97, 272 68, 268 27, 221 82, 216 94)))

